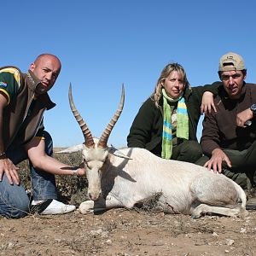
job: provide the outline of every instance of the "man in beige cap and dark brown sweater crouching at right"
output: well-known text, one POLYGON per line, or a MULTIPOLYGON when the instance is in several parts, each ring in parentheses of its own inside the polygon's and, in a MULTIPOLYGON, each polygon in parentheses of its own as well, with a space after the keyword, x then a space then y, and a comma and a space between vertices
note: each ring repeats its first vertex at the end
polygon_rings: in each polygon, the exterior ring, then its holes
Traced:
POLYGON ((214 99, 217 112, 207 113, 203 120, 205 155, 197 164, 250 189, 256 182, 256 84, 244 81, 244 61, 233 52, 220 58, 218 76, 223 86, 214 99))

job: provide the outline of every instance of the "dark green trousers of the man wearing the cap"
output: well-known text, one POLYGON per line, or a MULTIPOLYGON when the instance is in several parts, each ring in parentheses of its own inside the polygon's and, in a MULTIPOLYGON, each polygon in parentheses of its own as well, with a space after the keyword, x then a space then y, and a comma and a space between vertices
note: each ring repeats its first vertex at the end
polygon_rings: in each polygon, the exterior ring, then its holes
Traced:
MULTIPOLYGON (((224 149, 224 153, 230 158, 232 167, 223 162, 222 172, 238 183, 243 189, 251 189, 256 183, 256 141, 251 147, 238 151, 224 149)), ((196 165, 204 166, 209 158, 204 155, 195 162, 196 165)))

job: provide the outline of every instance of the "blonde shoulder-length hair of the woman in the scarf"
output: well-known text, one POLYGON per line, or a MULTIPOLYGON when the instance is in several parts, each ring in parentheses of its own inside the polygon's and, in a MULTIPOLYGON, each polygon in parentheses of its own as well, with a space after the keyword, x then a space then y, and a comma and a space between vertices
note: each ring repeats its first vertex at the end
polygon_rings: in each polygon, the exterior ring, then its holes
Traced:
POLYGON ((183 77, 183 84, 185 85, 184 88, 186 88, 189 85, 189 81, 187 79, 186 72, 184 68, 178 64, 178 63, 169 63, 164 67, 162 72, 160 73, 160 78, 157 80, 157 83, 154 88, 154 93, 150 96, 151 100, 154 102, 156 108, 159 108, 159 101, 161 97, 161 90, 163 87, 163 83, 165 82, 166 78, 172 73, 173 71, 177 71, 177 73, 180 73, 183 77))

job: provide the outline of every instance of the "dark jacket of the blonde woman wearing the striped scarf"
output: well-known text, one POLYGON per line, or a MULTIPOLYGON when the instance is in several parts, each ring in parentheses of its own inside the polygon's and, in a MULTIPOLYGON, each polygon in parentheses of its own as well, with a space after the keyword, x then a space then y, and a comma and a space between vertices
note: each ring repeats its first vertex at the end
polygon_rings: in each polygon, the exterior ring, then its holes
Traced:
MULTIPOLYGON (((195 140, 196 129, 201 117, 200 107, 202 95, 205 91, 211 91, 214 95, 218 92, 218 86, 205 85, 184 90, 183 97, 189 114, 189 140, 195 140)), ((133 120, 130 133, 127 137, 129 148, 146 148, 153 154, 160 156, 163 131, 163 98, 160 98, 160 108, 156 108, 151 98, 148 98, 139 109, 133 120)), ((182 141, 179 141, 182 143, 182 141)))

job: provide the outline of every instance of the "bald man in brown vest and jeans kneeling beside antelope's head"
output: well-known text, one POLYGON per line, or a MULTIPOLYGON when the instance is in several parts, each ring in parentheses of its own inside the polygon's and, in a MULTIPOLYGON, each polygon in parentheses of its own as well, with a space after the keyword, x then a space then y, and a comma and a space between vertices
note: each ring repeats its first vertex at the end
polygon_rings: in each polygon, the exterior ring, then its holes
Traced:
POLYGON ((61 72, 61 61, 38 55, 27 73, 17 67, 0 67, 0 215, 21 218, 31 209, 41 214, 73 212, 75 206, 57 200, 56 175, 84 175, 84 169, 67 166, 51 157, 52 139, 44 130, 44 110, 55 107, 48 91, 61 72), (29 160, 32 206, 20 184, 18 168, 29 160))

